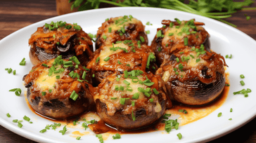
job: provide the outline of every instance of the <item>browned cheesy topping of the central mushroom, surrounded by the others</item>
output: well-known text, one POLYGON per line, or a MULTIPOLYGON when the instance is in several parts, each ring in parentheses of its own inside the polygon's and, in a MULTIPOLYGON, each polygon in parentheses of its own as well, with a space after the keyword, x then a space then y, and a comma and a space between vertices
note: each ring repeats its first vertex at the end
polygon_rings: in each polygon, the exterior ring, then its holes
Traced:
POLYGON ((101 82, 115 71, 141 69, 155 73, 158 67, 154 60, 155 55, 150 46, 138 44, 137 41, 125 40, 98 48, 87 68, 91 69, 101 82), (149 55, 153 57, 151 61, 148 61, 149 55))

